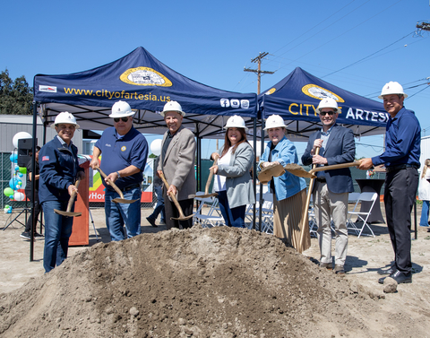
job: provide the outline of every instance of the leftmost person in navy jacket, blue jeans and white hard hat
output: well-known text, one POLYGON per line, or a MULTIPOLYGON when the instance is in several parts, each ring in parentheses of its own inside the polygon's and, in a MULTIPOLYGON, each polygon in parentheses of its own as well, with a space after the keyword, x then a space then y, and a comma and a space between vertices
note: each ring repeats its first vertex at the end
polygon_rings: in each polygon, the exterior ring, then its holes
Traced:
POLYGON ((78 191, 76 179, 85 178, 79 167, 78 148, 72 142, 73 134, 79 128, 76 119, 69 112, 62 112, 51 127, 57 134, 39 152, 39 200, 45 214, 45 273, 67 258, 72 235, 73 217, 57 214, 54 209, 65 212, 70 196, 78 191))

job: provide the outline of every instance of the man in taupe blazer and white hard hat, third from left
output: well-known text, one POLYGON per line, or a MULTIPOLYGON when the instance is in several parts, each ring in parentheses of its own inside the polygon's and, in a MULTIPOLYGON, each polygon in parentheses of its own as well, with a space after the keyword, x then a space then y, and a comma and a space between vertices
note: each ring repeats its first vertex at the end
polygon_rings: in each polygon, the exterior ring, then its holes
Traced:
POLYGON ((176 205, 170 201, 169 194, 176 195, 185 216, 193 213, 193 198, 195 195, 195 140, 193 133, 182 126, 185 112, 176 101, 169 101, 164 106, 161 116, 168 126, 161 143, 161 154, 159 160, 158 174, 164 177, 170 185, 168 189, 163 186, 164 208, 166 212, 166 225, 168 230, 172 228, 183 229, 193 226, 193 218, 186 221, 171 220, 179 217, 176 205))

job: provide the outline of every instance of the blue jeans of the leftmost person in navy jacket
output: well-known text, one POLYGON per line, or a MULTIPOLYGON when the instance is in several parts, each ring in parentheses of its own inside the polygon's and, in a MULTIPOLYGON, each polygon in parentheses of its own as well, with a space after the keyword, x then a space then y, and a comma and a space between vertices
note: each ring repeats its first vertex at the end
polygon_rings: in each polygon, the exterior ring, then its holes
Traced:
MULTIPOLYGON (((69 238, 72 235, 73 217, 65 217, 54 212, 54 209, 66 211, 69 201, 46 201, 42 204, 45 214, 45 249, 43 267, 49 273, 67 258, 69 238)), ((74 210, 74 205, 72 212, 74 210)))

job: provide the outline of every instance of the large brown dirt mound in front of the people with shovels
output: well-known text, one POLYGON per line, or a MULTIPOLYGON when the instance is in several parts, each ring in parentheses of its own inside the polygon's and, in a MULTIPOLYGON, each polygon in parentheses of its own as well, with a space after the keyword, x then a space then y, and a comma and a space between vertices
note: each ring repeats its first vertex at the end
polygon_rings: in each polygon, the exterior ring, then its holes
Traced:
POLYGON ((377 299, 278 238, 194 227, 100 243, 1 295, 0 335, 369 336, 354 314, 377 299))

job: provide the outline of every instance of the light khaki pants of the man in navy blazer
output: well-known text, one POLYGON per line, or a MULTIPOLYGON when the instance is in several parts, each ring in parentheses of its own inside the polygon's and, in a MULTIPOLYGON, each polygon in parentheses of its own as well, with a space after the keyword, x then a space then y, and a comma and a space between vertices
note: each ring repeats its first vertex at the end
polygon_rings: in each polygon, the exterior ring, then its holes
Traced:
POLYGON ((321 263, 331 263, 331 218, 334 222, 336 245, 335 264, 344 265, 348 249, 348 193, 333 194, 326 183, 316 181, 314 210, 318 224, 321 263))

